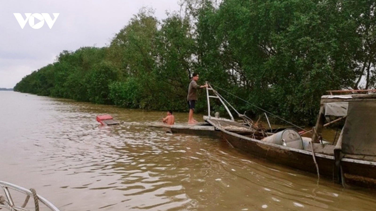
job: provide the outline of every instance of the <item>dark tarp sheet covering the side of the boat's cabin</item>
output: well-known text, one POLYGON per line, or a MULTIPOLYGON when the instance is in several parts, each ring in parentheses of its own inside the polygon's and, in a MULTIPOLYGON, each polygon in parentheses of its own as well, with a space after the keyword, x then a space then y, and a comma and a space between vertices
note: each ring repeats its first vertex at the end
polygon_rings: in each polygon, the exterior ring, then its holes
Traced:
POLYGON ((349 102, 343 127, 342 152, 376 155, 376 104, 374 102, 349 102))

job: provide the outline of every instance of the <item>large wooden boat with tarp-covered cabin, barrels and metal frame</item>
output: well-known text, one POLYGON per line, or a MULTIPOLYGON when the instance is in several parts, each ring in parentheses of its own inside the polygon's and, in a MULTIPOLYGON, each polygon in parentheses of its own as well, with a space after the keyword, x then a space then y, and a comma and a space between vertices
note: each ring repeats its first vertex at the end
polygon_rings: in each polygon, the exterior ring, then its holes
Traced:
POLYGON ((234 109, 249 124, 245 126, 235 122, 227 105, 232 106, 211 86, 206 93, 209 112, 204 120, 220 130, 222 140, 230 146, 274 163, 317 173, 319 178, 332 178, 344 187, 356 185, 376 188, 376 94, 322 96, 312 138, 294 133, 293 140, 286 142, 282 139, 283 131, 270 133, 258 128, 234 109), (215 95, 210 96, 210 90, 215 95), (211 116, 209 98, 219 99, 230 119, 211 116), (322 140, 325 117, 328 115, 346 118, 336 145, 322 140), (296 144, 299 139, 302 144, 296 144))

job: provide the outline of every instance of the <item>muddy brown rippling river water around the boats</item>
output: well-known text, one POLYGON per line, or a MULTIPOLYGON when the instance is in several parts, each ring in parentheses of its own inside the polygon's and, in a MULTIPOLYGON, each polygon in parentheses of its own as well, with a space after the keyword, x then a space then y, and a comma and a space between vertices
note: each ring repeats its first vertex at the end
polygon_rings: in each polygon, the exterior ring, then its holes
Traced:
POLYGON ((376 210, 373 190, 148 127, 162 112, 0 91, 0 117, 0 180, 35 188, 62 211, 376 210), (124 124, 99 125, 105 113, 124 124))

